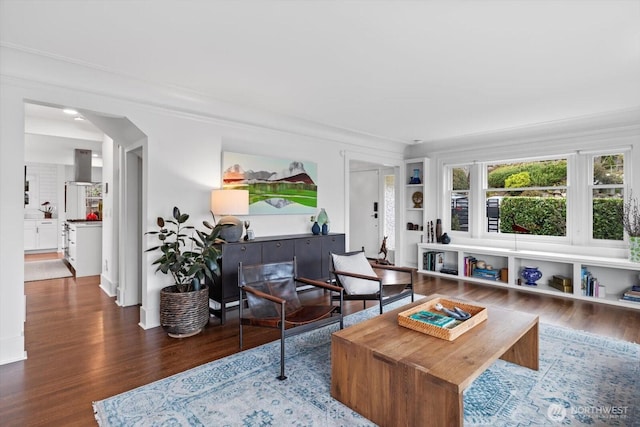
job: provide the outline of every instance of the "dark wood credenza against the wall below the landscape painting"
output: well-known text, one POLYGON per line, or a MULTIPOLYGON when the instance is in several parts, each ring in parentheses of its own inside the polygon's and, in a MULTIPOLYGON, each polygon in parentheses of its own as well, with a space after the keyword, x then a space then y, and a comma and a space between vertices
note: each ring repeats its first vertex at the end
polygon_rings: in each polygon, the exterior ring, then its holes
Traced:
POLYGON ((238 264, 266 264, 290 261, 296 257, 298 276, 309 279, 328 280, 330 278, 329 253, 345 251, 345 235, 292 234, 285 236, 258 237, 254 240, 225 243, 219 246, 221 274, 213 285, 209 285, 209 298, 220 304, 220 309, 210 309, 226 320, 227 304, 238 301, 238 264))

